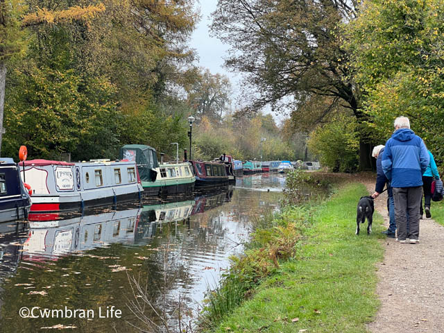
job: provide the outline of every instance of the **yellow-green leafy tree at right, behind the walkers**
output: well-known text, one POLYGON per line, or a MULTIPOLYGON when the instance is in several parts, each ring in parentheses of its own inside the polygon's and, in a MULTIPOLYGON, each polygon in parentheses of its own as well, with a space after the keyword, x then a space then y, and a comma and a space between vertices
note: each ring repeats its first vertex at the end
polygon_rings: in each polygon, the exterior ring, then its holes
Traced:
POLYGON ((395 117, 411 126, 444 160, 444 3, 367 1, 348 27, 351 65, 365 89, 368 125, 384 143, 395 117))

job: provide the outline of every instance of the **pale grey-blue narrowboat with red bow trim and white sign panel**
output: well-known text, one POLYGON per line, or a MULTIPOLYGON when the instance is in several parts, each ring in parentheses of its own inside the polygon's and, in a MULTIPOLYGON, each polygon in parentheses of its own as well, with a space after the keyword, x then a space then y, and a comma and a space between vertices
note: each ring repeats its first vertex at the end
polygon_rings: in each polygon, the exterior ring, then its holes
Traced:
POLYGON ((20 175, 31 185, 31 212, 116 205, 140 200, 143 190, 135 162, 29 160, 20 175))

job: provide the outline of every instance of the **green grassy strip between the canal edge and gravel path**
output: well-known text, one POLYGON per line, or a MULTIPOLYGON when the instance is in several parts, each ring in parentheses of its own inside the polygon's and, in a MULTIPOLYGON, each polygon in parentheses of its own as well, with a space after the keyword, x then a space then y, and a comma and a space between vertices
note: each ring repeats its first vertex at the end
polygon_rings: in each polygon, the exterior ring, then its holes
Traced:
POLYGON ((377 241, 381 216, 374 216, 373 234, 355 235, 357 201, 366 194, 363 185, 342 185, 332 198, 305 210, 309 218, 301 219, 302 210, 287 210, 286 219, 296 214, 300 221, 296 252, 279 258, 253 297, 212 331, 366 332, 377 311, 375 263, 383 255, 377 241))

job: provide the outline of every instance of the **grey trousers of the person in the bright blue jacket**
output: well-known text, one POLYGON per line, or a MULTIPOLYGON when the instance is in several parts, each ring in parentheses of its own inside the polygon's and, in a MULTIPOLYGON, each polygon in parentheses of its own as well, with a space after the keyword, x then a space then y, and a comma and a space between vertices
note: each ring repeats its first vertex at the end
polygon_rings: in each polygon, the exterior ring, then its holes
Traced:
POLYGON ((419 239, 419 207, 421 205, 422 186, 393 187, 395 199, 395 220, 398 228, 398 240, 419 239), (409 223, 409 234, 407 234, 409 223))

